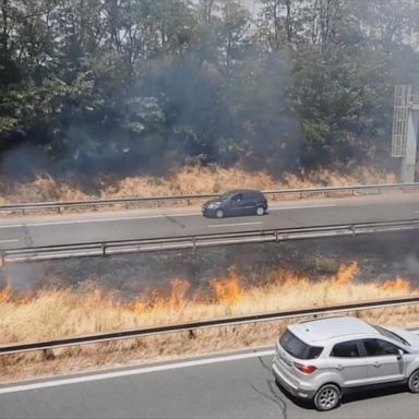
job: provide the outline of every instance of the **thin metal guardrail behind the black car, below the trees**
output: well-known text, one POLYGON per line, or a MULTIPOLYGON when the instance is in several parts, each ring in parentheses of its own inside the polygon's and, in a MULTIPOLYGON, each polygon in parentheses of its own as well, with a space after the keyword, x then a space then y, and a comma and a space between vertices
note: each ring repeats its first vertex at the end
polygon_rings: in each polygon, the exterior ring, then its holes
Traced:
MULTIPOLYGON (((300 197, 310 194, 325 194, 336 192, 348 192, 355 194, 356 192, 378 192, 399 190, 406 192, 408 190, 419 190, 419 183, 387 183, 387 184, 361 184, 349 187, 324 187, 324 188, 307 188, 307 189, 283 189, 283 190, 264 190, 262 191, 266 195, 300 195, 300 197)), ((58 213, 63 208, 77 208, 77 207, 92 207, 97 210, 99 206, 123 206, 130 208, 133 204, 151 203, 154 202, 158 205, 160 202, 173 202, 173 201, 192 201, 192 200, 205 200, 219 196, 218 193, 206 193, 201 195, 172 195, 172 196, 147 196, 147 197, 120 197, 109 200, 89 200, 89 201, 62 201, 62 202, 37 202, 26 204, 10 204, 1 205, 1 211, 16 212, 22 211, 23 214, 27 211, 36 210, 56 210, 58 213)))

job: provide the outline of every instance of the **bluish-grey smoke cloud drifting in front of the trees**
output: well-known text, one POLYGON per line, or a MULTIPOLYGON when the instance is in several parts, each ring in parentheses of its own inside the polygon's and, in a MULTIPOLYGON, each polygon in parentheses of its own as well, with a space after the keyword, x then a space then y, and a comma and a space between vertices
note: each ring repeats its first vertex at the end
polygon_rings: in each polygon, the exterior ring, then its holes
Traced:
MULTIPOLYGON (((83 179, 166 175, 190 164, 241 164, 274 173, 299 167, 302 134, 289 101, 290 56, 243 44, 227 63, 212 43, 214 33, 201 36, 179 57, 151 59, 106 104, 84 106, 82 113, 64 108, 57 127, 45 119, 46 129, 36 134, 41 139, 26 132, 22 146, 3 152, 1 173, 83 179)), ((97 94, 106 87, 98 80, 95 88, 97 94)))

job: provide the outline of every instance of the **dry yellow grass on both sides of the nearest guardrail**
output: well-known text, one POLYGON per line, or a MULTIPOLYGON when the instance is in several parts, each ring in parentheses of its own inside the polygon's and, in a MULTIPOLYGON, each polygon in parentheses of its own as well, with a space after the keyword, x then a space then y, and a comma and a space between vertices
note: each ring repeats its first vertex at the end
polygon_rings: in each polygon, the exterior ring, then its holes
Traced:
MULTIPOLYGON (((357 283, 356 263, 342 265, 337 274, 312 282, 288 271, 274 271, 263 286, 241 288, 230 272, 214 279, 211 292, 191 295, 188 282, 175 280, 167 295, 149 292, 129 302, 98 289, 51 289, 31 298, 3 289, 0 297, 1 344, 53 339, 64 336, 145 327, 192 320, 235 316, 267 311, 327 306, 338 302, 392 298, 417 292, 407 280, 357 283)), ((362 314, 382 324, 418 325, 419 308, 375 310, 362 314)), ((28 354, 2 357, 3 380, 33 374, 53 374, 89 368, 172 359, 187 355, 218 352, 272 345, 286 322, 235 326, 153 336, 127 342, 57 349, 40 356, 28 354), (24 368, 23 368, 24 367, 24 368)))

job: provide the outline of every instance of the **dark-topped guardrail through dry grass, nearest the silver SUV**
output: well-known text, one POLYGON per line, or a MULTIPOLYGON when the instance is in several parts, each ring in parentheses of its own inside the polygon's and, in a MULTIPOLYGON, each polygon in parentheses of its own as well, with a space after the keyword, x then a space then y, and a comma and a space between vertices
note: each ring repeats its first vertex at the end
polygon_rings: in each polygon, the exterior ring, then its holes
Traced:
POLYGON ((182 324, 169 324, 165 326, 140 328, 140 330, 128 330, 121 332, 101 333, 87 336, 77 336, 56 340, 26 343, 0 346, 0 355, 16 355, 22 352, 28 352, 34 350, 48 350, 58 349, 69 346, 88 345, 88 344, 100 344, 109 343, 115 340, 145 337, 152 335, 163 335, 168 333, 189 332, 196 330, 204 330, 211 327, 227 327, 235 325, 244 325, 260 322, 270 322, 286 319, 298 319, 313 315, 325 315, 325 314, 337 314, 350 311, 364 311, 371 309, 385 309, 400 306, 411 306, 419 303, 419 296, 416 297, 400 297, 395 299, 375 300, 375 301, 363 301, 356 303, 344 303, 335 304, 331 307, 319 307, 309 309, 288 310, 282 312, 270 312, 261 314, 242 315, 237 318, 224 318, 205 320, 191 323, 182 324))

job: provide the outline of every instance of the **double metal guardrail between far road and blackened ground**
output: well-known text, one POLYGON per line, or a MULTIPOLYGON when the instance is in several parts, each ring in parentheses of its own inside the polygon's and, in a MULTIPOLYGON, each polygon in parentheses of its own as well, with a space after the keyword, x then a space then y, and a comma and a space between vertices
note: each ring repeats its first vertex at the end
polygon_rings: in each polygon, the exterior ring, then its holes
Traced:
POLYGON ((146 252, 156 250, 197 249, 214 246, 279 242, 286 240, 325 237, 359 236, 419 229, 419 219, 376 222, 335 226, 295 227, 286 229, 217 232, 200 236, 179 236, 141 240, 117 240, 92 243, 21 248, 0 251, 1 262, 25 262, 52 259, 105 256, 110 254, 146 252))

